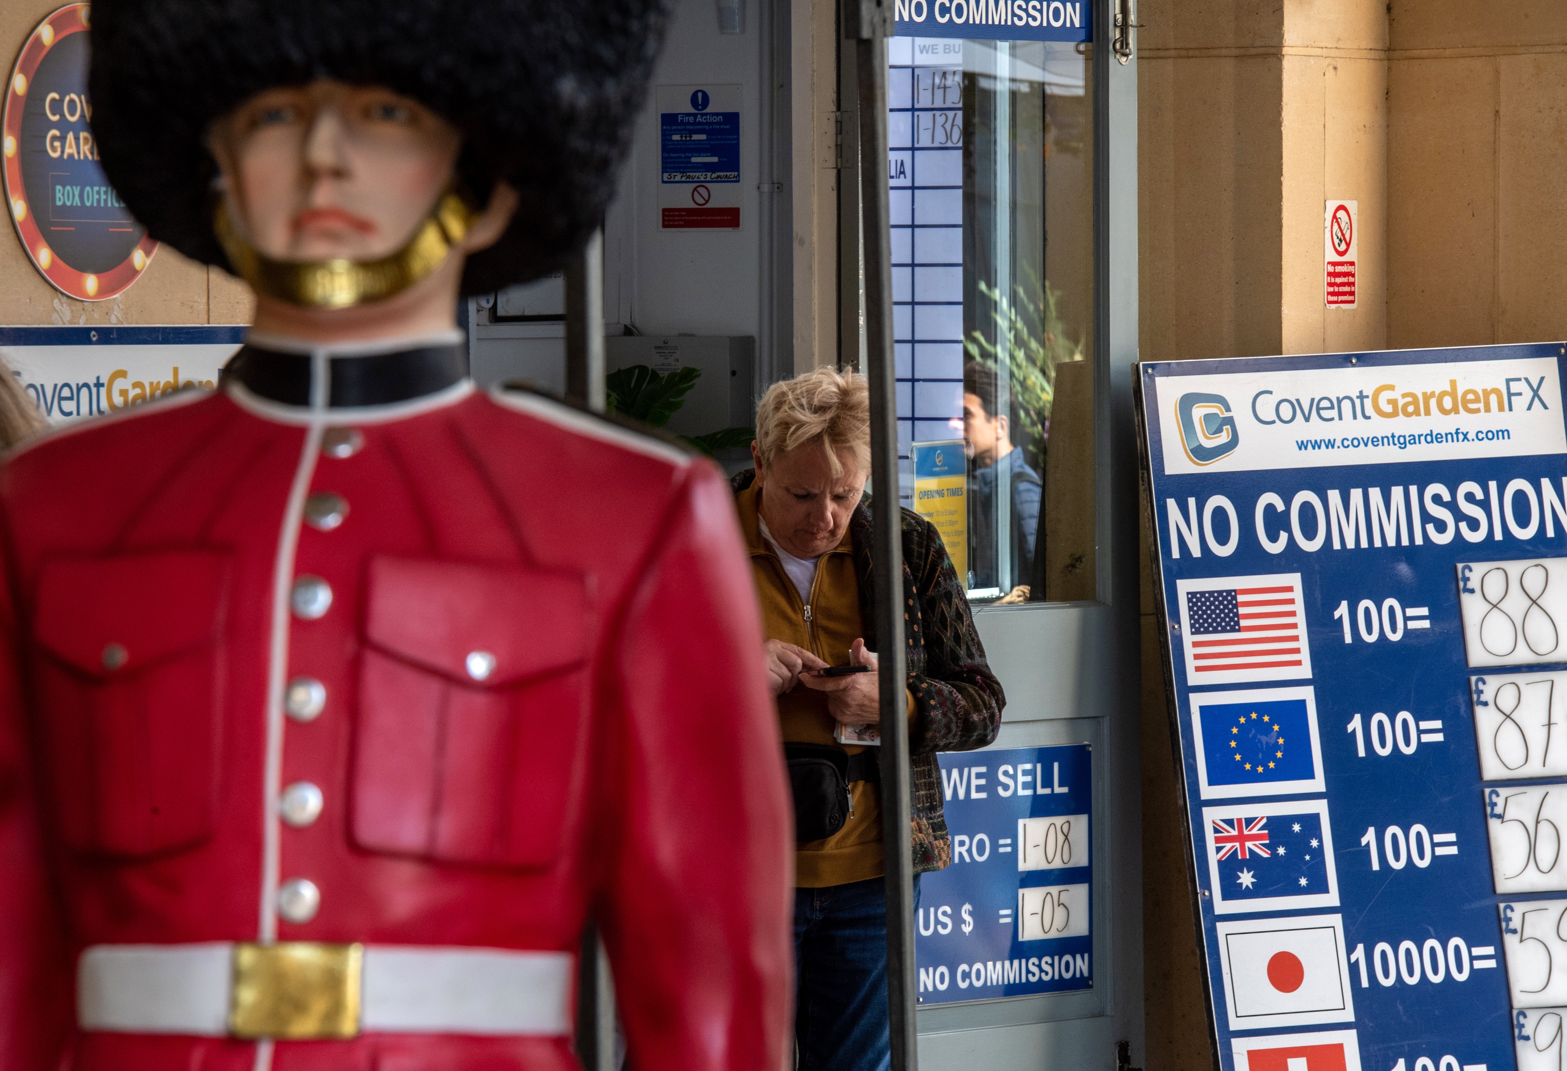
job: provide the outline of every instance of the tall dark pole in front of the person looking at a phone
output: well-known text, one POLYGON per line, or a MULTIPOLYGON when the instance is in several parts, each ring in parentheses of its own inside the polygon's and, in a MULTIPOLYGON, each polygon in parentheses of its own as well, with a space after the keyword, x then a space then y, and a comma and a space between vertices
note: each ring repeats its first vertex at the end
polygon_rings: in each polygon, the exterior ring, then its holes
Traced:
POLYGON ((881 662, 882 844, 887 852, 887 1010, 893 1071, 915 1071, 914 850, 909 838, 909 725, 904 716, 903 510, 898 507, 898 395, 892 351, 892 232, 887 219, 887 38, 892 0, 845 0, 859 74, 860 205, 865 241, 865 374, 871 388, 871 553, 881 662))

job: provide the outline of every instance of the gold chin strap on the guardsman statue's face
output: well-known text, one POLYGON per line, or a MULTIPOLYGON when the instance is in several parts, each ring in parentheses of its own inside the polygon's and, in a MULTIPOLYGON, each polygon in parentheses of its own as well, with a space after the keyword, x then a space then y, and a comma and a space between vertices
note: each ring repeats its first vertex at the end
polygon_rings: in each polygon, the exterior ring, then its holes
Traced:
POLYGON ((221 200, 213 229, 229 263, 257 291, 302 308, 348 308, 384 301, 429 276, 469 233, 473 216, 448 191, 414 236, 379 260, 273 260, 235 233, 221 200))

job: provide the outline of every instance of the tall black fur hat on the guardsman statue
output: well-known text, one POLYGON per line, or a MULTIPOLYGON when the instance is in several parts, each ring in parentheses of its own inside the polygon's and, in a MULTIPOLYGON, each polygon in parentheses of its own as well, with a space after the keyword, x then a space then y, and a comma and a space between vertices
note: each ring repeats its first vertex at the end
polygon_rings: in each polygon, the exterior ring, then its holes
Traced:
POLYGON ((215 119, 282 85, 385 86, 464 135, 480 205, 520 197, 464 293, 561 268, 599 225, 663 39, 666 0, 97 0, 92 132, 154 238, 229 268, 213 235, 215 119))

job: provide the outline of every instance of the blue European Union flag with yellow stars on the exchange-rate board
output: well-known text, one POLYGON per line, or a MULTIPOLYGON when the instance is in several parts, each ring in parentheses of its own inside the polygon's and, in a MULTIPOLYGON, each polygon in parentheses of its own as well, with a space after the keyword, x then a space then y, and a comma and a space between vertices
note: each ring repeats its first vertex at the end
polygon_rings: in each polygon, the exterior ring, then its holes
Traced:
POLYGON ((1315 778, 1310 719, 1304 698, 1203 703, 1199 722, 1208 784, 1315 778))

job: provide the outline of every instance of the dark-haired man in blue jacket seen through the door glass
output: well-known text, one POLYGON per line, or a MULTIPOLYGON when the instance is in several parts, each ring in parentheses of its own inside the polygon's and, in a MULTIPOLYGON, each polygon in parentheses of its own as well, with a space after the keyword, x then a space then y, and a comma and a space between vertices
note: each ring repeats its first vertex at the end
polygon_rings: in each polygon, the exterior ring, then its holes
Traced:
POLYGON ((964 365, 964 451, 968 454, 968 587, 1001 587, 1008 600, 1023 601, 1034 576, 1034 540, 1039 536, 1039 498, 1044 481, 1012 445, 1011 416, 997 402, 993 368, 964 365), (998 495, 1009 503, 1011 540, 1001 575, 998 495), (1022 589, 1022 590, 1019 590, 1022 589))

